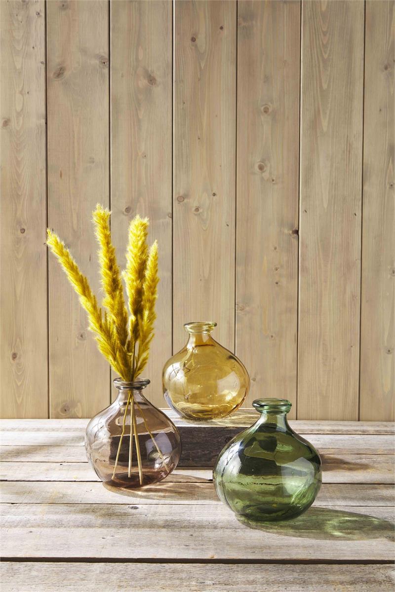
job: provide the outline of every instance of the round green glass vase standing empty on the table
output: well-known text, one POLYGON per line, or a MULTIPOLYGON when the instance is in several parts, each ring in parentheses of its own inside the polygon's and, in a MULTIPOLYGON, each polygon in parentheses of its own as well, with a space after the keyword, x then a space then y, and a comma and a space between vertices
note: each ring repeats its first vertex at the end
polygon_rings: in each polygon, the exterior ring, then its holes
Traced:
POLYGON ((224 504, 257 522, 287 520, 307 510, 321 487, 321 459, 287 422, 285 399, 258 399, 253 426, 235 436, 214 466, 214 486, 224 504))

